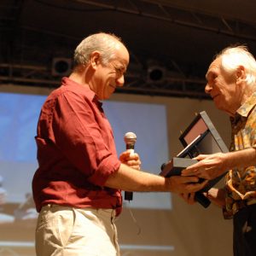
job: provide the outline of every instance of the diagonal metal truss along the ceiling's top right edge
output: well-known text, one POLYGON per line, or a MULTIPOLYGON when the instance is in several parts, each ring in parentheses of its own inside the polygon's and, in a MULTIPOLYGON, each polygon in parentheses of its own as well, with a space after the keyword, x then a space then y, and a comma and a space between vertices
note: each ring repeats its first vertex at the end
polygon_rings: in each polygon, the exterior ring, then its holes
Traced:
POLYGON ((73 0, 102 9, 140 15, 157 20, 166 20, 179 26, 189 26, 196 29, 218 32, 231 37, 256 41, 256 24, 254 22, 237 20, 231 15, 224 17, 199 10, 181 9, 167 0, 73 0))

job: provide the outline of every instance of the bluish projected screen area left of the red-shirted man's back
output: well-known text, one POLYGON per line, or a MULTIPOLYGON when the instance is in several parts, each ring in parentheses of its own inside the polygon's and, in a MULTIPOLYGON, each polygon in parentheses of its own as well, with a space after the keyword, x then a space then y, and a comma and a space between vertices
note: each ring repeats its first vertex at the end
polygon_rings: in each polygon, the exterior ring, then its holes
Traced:
POLYGON ((44 100, 45 96, 0 94, 0 176, 8 202, 21 203, 31 193, 32 175, 38 166, 34 136, 44 100))

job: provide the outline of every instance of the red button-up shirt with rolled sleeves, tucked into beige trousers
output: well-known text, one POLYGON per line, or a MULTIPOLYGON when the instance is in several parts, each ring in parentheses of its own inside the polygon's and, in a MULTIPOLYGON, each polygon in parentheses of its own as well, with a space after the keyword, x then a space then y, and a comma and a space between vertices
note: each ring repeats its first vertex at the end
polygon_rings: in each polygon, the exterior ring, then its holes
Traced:
POLYGON ((38 119, 38 170, 32 191, 38 212, 52 203, 121 211, 118 189, 104 187, 117 172, 113 131, 96 95, 71 79, 62 79, 44 102, 38 119))

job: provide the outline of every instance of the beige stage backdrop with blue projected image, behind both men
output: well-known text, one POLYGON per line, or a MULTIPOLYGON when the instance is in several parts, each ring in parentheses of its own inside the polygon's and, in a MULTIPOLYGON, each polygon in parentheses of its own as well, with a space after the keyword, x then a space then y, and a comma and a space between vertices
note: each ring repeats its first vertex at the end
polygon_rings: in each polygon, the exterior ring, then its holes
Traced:
MULTIPOLYGON (((0 90, 0 255, 35 255, 34 136, 50 90, 12 85, 0 90)), ((103 108, 113 126, 118 154, 125 150, 125 132, 137 134, 135 147, 146 172, 159 174, 161 164, 182 150, 180 131, 196 112, 206 110, 229 144, 228 118, 210 101, 115 94, 103 108)), ((224 221, 220 209, 188 206, 171 193, 134 193, 133 201, 124 201, 117 226, 122 255, 213 256, 232 251, 231 223, 224 221)))

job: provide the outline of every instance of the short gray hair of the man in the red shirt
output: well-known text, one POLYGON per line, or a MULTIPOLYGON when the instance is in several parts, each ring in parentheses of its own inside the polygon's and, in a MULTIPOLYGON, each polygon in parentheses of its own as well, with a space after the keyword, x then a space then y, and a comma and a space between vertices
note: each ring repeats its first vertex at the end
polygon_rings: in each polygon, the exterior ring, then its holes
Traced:
POLYGON ((102 58, 102 64, 106 65, 108 61, 115 57, 115 46, 121 43, 121 38, 114 34, 98 32, 92 34, 78 45, 74 52, 74 65, 86 65, 90 61, 90 55, 94 51, 99 51, 102 58))

